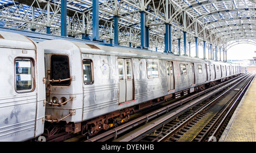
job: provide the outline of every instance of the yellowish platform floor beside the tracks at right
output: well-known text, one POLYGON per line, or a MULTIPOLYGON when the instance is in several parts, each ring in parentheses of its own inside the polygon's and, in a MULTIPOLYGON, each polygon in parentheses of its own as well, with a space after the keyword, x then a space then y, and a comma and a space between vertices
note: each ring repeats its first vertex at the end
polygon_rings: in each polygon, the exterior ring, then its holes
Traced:
POLYGON ((256 142, 256 79, 229 121, 219 142, 256 142))

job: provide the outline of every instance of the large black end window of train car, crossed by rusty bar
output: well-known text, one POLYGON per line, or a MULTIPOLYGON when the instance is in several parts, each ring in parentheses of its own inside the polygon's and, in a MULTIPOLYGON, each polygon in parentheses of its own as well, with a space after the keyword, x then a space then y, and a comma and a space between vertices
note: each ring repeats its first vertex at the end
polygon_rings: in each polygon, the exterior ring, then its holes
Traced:
POLYGON ((71 83, 69 74, 68 56, 52 56, 51 57, 51 79, 63 80, 51 82, 52 86, 69 86, 71 83))

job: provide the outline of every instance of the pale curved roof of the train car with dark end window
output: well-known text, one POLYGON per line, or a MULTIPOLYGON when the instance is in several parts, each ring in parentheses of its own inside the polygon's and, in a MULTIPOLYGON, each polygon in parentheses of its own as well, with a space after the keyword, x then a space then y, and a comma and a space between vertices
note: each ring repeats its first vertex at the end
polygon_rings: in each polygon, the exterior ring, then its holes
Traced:
MULTIPOLYGON (((118 57, 131 57, 131 58, 151 58, 151 59, 167 59, 174 61, 185 62, 204 62, 207 61, 199 58, 192 58, 186 56, 176 56, 174 54, 167 54, 163 52, 154 52, 151 50, 129 48, 122 46, 106 46, 101 44, 90 44, 89 42, 77 42, 69 40, 47 40, 39 43, 45 49, 45 52, 49 52, 49 49, 70 50, 74 46, 80 49, 81 53, 85 54, 102 54, 118 57)), ((51 50, 52 52, 52 50, 51 50)))

